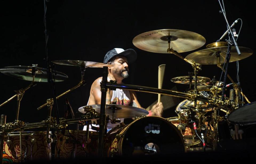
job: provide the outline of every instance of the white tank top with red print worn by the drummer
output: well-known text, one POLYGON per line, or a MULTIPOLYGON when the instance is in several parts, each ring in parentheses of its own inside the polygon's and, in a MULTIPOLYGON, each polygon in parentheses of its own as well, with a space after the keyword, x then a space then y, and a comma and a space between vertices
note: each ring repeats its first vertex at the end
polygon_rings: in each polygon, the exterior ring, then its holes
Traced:
MULTIPOLYGON (((107 77, 107 80, 110 81, 109 77, 107 77)), ((130 92, 129 90, 123 90, 123 89, 116 89, 113 90, 113 95, 111 98, 111 103, 112 104, 118 104, 118 105, 129 105, 130 104, 130 92)), ((90 99, 90 98, 89 98, 90 99)), ((89 100, 88 100, 89 103, 89 100)), ((87 103, 87 105, 88 105, 87 103)), ((112 116, 109 116, 110 118, 112 118, 112 116)), ((121 120, 121 122, 123 122, 123 118, 116 118, 118 120, 121 120)), ((109 123, 107 124, 107 129, 111 129, 113 127, 115 127, 116 125, 118 125, 119 123, 116 124, 111 124, 111 122, 109 121, 109 123)), ((93 124, 93 126, 95 127, 99 127, 99 125, 93 124)), ((86 125, 83 127, 83 130, 86 131, 86 125)), ((91 125, 89 125, 89 131, 94 131, 91 129, 91 125)))

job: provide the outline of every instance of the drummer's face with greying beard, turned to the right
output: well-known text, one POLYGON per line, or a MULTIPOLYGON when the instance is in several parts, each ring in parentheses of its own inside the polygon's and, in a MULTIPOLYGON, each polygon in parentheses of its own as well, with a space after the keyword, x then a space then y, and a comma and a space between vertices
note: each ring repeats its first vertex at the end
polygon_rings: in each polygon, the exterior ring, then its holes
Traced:
POLYGON ((113 74, 116 74, 118 77, 122 77, 124 79, 129 76, 128 61, 126 57, 117 56, 112 64, 115 65, 111 67, 113 74))

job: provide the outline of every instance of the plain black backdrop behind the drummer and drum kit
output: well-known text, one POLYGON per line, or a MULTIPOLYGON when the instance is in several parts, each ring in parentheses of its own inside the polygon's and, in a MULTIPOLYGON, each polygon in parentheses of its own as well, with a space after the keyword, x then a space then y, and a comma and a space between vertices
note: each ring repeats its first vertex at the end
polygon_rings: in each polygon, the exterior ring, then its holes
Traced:
MULTIPOLYGON (((251 1, 225 1, 229 24, 237 18, 243 20, 238 45, 255 52, 255 9, 251 1)), ((179 29, 199 33, 206 39, 201 48, 182 53, 188 54, 205 49, 226 31, 226 23, 219 13, 218 1, 50 1, 47 2, 47 30, 49 33, 50 60, 84 60, 103 62, 107 51, 113 48, 133 48, 137 61, 129 65, 130 76, 125 83, 148 87, 158 86, 158 65, 166 64, 163 89, 175 85, 184 92, 186 85, 172 83, 173 77, 185 76, 192 68, 173 54, 146 52, 136 48, 132 40, 135 36, 152 30, 179 29)), ((45 35, 43 33, 43 0, 1 2, 1 45, 0 66, 38 64, 46 68, 45 35)), ((238 31, 241 22, 235 26, 238 31)), ((240 81, 244 94, 255 101, 255 55, 239 61, 240 81)), ((80 81, 79 68, 56 65, 56 70, 69 78, 56 83, 57 95, 70 89, 80 81)), ((216 65, 203 65, 199 76, 219 79, 221 70, 216 65)), ((236 81, 235 62, 230 63, 229 74, 236 81)), ((92 82, 102 76, 102 69, 88 68, 85 73, 87 85, 80 87, 58 99, 59 113, 63 117, 68 98, 74 111, 87 104, 92 82)), ((25 88, 29 81, 8 77, 0 73, 0 103, 15 94, 14 90, 25 88)), ((230 83, 228 80, 227 83, 230 83)), ((229 91, 227 91, 229 92, 229 91)), ((137 92, 143 107, 157 100, 157 94, 137 92)), ((37 107, 51 98, 48 83, 38 82, 27 90, 21 102, 19 119, 25 122, 39 122, 46 118, 47 108, 37 111, 37 107)), ((7 122, 15 119, 16 98, 0 108, 7 115, 7 122)), ((182 101, 182 99, 180 99, 182 101)), ((165 111, 164 117, 171 117, 175 108, 165 111)), ((79 115, 76 114, 76 117, 79 115)))

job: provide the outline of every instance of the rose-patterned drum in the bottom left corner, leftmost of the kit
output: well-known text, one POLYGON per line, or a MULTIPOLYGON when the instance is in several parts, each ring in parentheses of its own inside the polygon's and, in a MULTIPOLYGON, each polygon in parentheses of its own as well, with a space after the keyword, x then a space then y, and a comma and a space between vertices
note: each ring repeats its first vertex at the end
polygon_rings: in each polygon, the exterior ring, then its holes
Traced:
POLYGON ((46 142, 46 131, 21 132, 21 134, 22 146, 20 146, 19 132, 7 133, 5 136, 2 163, 21 162, 21 149, 23 161, 51 159, 51 144, 46 142))

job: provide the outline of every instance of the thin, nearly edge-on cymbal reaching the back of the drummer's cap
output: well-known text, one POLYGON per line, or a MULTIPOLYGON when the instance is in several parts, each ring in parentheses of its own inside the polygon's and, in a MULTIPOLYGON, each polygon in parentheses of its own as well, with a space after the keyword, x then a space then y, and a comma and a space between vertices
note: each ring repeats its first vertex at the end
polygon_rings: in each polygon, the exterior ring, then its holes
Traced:
POLYGON ((99 62, 93 62, 93 61, 82 61, 82 60, 55 60, 51 61, 55 64, 60 65, 71 65, 71 66, 78 66, 78 67, 94 67, 94 68, 103 68, 103 66, 107 67, 113 67, 114 65, 111 64, 105 64, 105 63, 99 63, 99 62))

